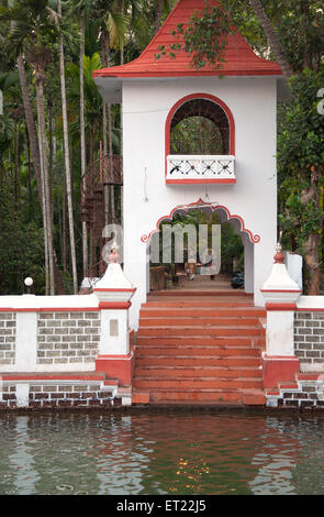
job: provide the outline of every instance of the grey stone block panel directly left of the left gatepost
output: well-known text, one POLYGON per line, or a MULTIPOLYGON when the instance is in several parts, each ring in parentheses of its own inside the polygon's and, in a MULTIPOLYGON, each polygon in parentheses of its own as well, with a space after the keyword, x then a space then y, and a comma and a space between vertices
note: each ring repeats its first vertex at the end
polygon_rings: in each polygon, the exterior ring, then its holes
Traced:
POLYGON ((99 353, 100 312, 40 312, 37 364, 90 364, 99 353))

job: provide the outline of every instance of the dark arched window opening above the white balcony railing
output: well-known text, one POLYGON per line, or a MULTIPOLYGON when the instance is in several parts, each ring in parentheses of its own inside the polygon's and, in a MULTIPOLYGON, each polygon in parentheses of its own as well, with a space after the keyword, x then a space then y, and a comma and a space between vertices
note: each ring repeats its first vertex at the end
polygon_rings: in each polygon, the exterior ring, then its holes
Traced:
POLYGON ((182 103, 170 123, 170 154, 228 155, 230 122, 223 108, 203 98, 182 103))

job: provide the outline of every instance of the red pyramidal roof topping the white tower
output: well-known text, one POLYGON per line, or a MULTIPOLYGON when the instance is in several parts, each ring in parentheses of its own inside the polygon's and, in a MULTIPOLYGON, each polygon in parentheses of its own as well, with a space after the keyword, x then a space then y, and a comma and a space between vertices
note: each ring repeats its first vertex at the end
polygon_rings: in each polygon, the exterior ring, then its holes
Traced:
MULTIPOLYGON (((217 0, 209 0, 211 7, 219 6, 217 0)), ((217 69, 205 65, 195 69, 190 64, 190 56, 185 51, 177 51, 176 57, 168 55, 168 48, 172 43, 179 43, 179 36, 172 34, 177 25, 188 25, 192 14, 199 15, 203 11, 204 0, 179 0, 164 25, 139 57, 121 66, 102 68, 93 73, 93 77, 177 77, 177 76, 281 76, 282 70, 277 63, 258 57, 246 40, 238 33, 228 35, 228 44, 225 51, 224 62, 217 69), (160 55, 160 48, 166 48, 166 54, 160 55)))

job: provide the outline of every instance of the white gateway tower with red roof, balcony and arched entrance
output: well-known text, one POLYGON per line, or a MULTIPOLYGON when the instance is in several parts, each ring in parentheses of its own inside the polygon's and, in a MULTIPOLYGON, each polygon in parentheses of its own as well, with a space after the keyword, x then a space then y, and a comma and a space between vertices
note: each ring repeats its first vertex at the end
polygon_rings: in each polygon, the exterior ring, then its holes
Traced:
POLYGON ((177 25, 186 26, 203 8, 203 0, 179 0, 137 59, 94 73, 103 99, 122 103, 124 272, 137 288, 133 327, 149 292, 152 235, 177 210, 195 206, 231 222, 244 243, 245 290, 254 293, 256 305, 264 305, 260 287, 271 271, 282 70, 258 57, 238 33, 228 36, 217 69, 197 70, 183 51, 158 57, 178 43, 177 25), (192 146, 182 145, 176 129, 193 117, 205 119, 215 135, 209 148, 199 146, 194 133, 192 146))

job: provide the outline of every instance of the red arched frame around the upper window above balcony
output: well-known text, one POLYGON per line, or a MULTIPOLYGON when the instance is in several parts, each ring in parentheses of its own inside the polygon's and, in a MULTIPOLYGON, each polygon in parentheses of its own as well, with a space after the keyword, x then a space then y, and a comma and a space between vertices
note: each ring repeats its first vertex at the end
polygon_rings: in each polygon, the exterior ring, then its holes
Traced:
MULTIPOLYGON (((166 127, 165 127, 165 158, 166 158, 166 165, 167 165, 167 156, 170 154, 170 133, 171 133, 171 125, 172 125, 172 119, 174 116, 181 109, 181 107, 194 99, 204 99, 214 102, 217 107, 222 109, 222 111, 225 113, 230 127, 230 142, 228 142, 228 147, 230 147, 230 154, 235 155, 235 121, 233 113, 228 106, 217 97, 210 95, 210 94, 191 94, 186 97, 182 97, 182 99, 178 100, 172 108, 170 109, 167 120, 166 120, 166 127)), ((166 167, 167 170, 167 167, 166 167)))

